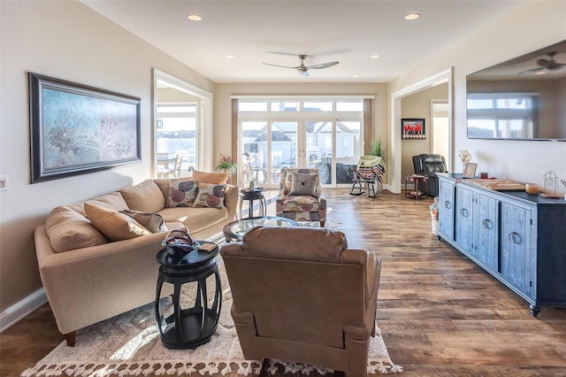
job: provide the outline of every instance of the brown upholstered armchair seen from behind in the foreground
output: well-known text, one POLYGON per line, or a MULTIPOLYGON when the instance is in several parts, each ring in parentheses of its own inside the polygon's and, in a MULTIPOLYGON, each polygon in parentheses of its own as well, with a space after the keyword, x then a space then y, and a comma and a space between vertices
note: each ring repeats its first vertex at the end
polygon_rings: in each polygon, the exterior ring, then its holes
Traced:
POLYGON ((221 250, 244 357, 365 376, 375 335, 380 262, 346 235, 310 227, 255 227, 221 250))

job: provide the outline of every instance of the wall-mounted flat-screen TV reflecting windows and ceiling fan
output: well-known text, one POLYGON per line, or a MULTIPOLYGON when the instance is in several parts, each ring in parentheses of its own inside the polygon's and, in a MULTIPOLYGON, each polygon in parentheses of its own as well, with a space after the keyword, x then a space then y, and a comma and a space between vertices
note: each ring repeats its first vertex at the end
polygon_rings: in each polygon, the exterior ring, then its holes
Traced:
POLYGON ((466 76, 468 138, 566 142, 566 40, 466 76))

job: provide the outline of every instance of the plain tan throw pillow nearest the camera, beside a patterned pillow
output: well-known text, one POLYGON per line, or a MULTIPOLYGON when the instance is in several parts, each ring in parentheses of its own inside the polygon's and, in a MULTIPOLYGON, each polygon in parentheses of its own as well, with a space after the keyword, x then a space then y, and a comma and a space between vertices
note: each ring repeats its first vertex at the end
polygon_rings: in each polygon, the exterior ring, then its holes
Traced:
POLYGON ((85 203, 85 213, 92 225, 111 241, 151 235, 148 229, 124 213, 89 203, 85 203))

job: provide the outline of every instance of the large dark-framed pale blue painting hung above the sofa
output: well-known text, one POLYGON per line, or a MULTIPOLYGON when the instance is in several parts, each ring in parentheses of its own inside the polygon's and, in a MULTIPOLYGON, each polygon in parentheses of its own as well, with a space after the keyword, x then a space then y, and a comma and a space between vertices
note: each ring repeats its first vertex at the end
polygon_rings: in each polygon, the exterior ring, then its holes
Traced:
POLYGON ((31 182, 141 164, 141 98, 28 73, 31 182))

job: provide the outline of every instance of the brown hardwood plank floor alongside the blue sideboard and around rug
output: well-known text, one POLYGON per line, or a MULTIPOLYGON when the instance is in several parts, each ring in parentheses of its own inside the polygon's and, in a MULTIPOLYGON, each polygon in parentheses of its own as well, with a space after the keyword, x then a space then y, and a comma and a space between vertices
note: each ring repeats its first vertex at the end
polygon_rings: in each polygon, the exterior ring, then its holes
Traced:
MULTIPOLYGON (((383 262, 378 325, 401 375, 566 376, 566 308, 533 318, 522 298, 432 235, 432 199, 348 191, 325 190, 327 221, 383 262)), ((45 304, 0 335, 0 376, 18 376, 62 341, 45 304)))

